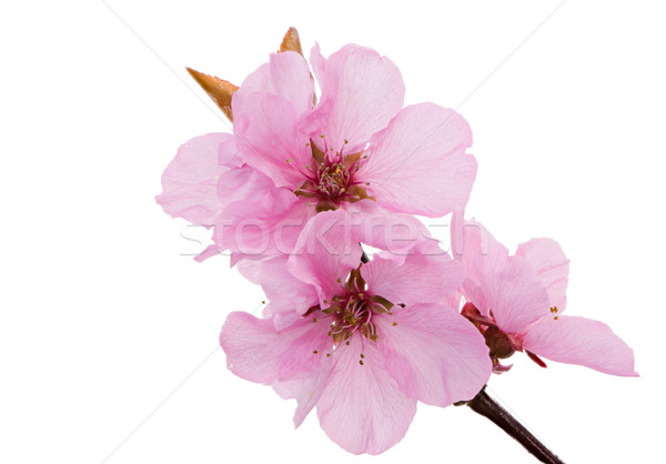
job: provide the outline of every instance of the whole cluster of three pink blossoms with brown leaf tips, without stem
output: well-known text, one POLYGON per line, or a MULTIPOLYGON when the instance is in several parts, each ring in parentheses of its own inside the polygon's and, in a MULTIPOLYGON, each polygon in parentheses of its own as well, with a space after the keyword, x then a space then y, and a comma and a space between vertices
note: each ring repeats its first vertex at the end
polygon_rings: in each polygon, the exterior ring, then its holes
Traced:
POLYGON ((296 426, 316 407, 343 448, 381 453, 417 401, 470 401, 515 352, 635 375, 610 329, 562 315, 568 261, 556 242, 509 256, 464 221, 470 127, 433 103, 403 108, 391 60, 355 44, 324 58, 315 46, 309 65, 290 29, 240 87, 190 73, 233 134, 182 145, 157 200, 212 229, 198 260, 229 252, 262 286, 262 317, 231 313, 220 344, 234 374, 296 400, 296 426), (453 258, 413 216, 448 213, 453 258))

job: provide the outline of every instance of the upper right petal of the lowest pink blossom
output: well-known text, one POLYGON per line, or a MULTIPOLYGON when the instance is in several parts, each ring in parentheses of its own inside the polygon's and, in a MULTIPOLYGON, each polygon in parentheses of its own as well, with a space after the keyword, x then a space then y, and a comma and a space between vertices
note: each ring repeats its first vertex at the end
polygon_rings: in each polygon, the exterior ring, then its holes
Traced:
POLYGON ((375 255, 361 266, 367 292, 394 304, 442 303, 463 281, 463 266, 447 254, 413 254, 401 265, 375 255))

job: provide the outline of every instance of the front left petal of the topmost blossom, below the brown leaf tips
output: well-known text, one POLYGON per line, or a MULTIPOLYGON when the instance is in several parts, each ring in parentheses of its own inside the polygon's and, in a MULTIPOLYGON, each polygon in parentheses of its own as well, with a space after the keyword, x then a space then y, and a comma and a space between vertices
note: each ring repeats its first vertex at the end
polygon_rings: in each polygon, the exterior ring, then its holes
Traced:
POLYGON ((248 164, 276 186, 295 189, 305 181, 303 169, 312 161, 307 137, 295 127, 296 110, 283 97, 269 92, 233 95, 233 133, 248 164))

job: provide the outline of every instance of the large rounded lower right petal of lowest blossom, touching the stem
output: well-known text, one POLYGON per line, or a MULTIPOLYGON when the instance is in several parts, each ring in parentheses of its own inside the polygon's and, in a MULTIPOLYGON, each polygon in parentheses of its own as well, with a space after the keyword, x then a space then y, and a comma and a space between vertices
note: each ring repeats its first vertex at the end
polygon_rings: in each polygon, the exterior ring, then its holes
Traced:
POLYGON ((386 340, 386 369, 408 397, 447 406, 481 391, 493 365, 473 324, 457 311, 434 304, 392 313, 377 324, 386 340))

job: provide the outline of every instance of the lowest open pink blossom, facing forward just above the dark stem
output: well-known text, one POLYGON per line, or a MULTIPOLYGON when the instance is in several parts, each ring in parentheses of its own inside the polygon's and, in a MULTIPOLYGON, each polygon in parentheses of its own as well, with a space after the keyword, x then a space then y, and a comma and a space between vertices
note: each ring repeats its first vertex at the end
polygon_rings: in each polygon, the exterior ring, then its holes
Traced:
POLYGON ((259 269, 268 319, 234 312, 220 334, 233 373, 296 399, 296 426, 316 406, 322 428, 354 454, 387 450, 416 401, 470 400, 492 371, 483 336, 442 304, 462 266, 427 241, 362 264, 359 241, 385 244, 373 236, 344 210, 317 214, 292 256, 259 269))

